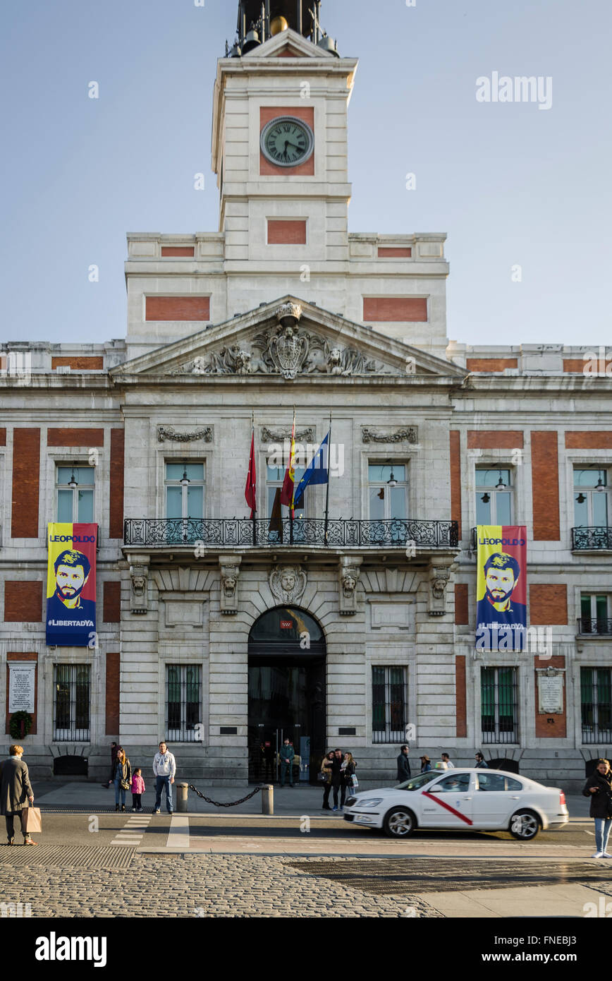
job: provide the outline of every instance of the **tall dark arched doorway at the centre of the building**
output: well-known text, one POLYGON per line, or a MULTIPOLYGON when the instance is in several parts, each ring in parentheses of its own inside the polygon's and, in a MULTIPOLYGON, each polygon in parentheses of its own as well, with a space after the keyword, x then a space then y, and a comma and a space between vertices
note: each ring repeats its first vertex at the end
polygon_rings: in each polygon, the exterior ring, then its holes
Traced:
POLYGON ((278 752, 286 738, 299 756, 295 781, 316 783, 326 739, 325 637, 305 610, 276 606, 249 634, 250 781, 278 781, 278 752))

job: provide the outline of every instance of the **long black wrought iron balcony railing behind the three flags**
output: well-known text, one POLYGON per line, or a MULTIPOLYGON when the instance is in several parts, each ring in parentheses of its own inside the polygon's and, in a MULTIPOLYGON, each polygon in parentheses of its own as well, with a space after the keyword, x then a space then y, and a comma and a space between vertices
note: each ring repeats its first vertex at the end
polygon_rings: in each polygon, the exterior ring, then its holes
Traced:
POLYGON ((269 518, 127 518, 127 545, 200 544, 213 548, 279 548, 307 545, 320 548, 457 548, 456 521, 359 521, 345 518, 283 518, 270 531, 269 518))

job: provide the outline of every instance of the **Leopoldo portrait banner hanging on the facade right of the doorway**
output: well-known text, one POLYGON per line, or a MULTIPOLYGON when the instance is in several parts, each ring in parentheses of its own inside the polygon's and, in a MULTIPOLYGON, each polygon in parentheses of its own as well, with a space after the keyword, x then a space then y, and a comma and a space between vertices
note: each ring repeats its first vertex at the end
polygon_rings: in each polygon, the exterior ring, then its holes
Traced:
POLYGON ((527 528, 479 525, 476 646, 523 650, 527 633, 527 528))

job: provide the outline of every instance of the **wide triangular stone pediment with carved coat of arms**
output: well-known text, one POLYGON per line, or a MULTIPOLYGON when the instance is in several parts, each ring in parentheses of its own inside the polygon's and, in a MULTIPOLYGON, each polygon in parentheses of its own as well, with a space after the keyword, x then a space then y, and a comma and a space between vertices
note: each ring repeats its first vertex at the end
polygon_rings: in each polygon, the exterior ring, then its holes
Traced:
POLYGON ((314 303, 284 296, 229 321, 182 337, 111 370, 113 377, 235 376, 312 381, 430 376, 463 378, 449 361, 346 320, 314 303))

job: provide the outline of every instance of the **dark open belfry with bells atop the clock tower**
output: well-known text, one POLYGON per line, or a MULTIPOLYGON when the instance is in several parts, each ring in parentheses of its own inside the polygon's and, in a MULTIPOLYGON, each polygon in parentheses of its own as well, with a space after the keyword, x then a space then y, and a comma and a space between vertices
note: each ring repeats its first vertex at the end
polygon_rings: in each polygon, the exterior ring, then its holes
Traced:
POLYGON ((246 55, 289 28, 337 55, 332 38, 321 29, 320 11, 321 0, 238 0, 238 36, 230 57, 246 55))

